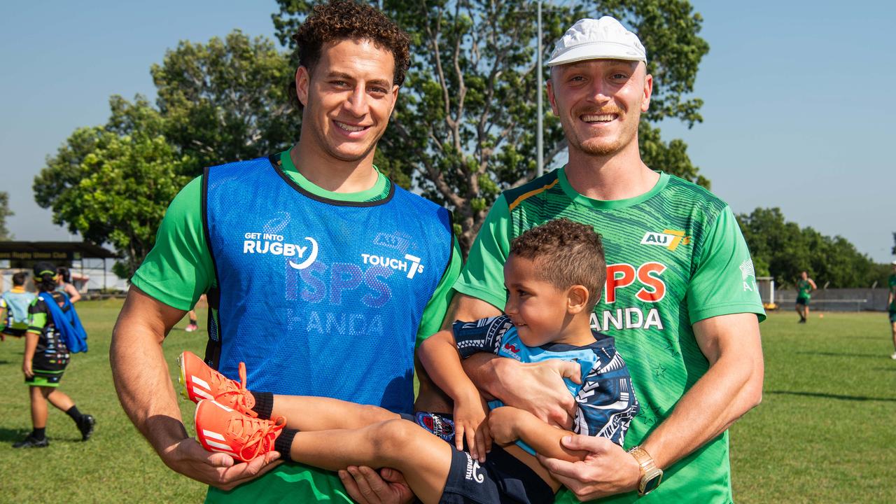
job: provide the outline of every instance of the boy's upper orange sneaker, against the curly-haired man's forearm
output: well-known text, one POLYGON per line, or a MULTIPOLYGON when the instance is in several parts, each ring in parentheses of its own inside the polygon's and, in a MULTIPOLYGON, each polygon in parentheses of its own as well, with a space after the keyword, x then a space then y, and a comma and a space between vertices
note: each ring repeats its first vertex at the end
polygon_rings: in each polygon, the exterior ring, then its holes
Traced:
POLYGON ((177 357, 177 364, 180 366, 178 381, 187 399, 194 403, 212 399, 239 413, 258 416, 252 411, 255 398, 246 390, 246 364, 243 362, 239 363, 239 382, 211 369, 194 352, 182 352, 177 357))

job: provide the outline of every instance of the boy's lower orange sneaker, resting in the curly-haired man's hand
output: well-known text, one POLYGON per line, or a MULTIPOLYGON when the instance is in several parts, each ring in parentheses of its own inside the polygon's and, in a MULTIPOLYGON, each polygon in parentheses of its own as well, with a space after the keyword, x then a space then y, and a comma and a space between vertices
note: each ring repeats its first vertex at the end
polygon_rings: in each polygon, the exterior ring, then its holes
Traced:
POLYGON ((274 440, 286 425, 282 416, 262 420, 205 399, 196 405, 195 421, 196 438, 202 448, 227 453, 243 462, 273 451, 274 440))

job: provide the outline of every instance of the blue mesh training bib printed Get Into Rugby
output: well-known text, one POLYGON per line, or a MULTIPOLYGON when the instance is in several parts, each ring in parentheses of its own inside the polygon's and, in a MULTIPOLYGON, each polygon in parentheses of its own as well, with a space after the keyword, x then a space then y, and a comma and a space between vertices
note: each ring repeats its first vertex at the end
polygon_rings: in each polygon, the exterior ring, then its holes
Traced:
POLYGON ((207 169, 203 184, 220 371, 236 378, 245 361, 254 390, 409 413, 450 213, 394 184, 374 202, 315 196, 267 158, 207 169))

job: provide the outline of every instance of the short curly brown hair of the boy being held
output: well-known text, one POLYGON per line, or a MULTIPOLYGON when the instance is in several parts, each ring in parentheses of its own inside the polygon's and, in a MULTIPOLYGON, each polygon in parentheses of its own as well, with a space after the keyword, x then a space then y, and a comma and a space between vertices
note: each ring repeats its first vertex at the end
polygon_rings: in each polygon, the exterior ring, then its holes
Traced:
POLYGON ((538 265, 541 279, 557 289, 584 285, 590 311, 607 281, 607 261, 600 235, 590 226, 556 219, 526 230, 513 239, 510 253, 538 265))

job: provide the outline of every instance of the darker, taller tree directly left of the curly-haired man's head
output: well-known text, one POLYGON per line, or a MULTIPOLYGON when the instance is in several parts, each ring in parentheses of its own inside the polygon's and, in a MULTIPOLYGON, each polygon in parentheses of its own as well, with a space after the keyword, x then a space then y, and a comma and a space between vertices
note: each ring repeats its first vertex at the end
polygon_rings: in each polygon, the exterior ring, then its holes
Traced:
POLYGON ((300 124, 294 71, 270 39, 239 30, 207 44, 181 41, 151 68, 168 142, 197 170, 286 149, 300 124))

